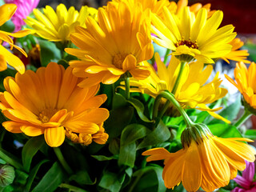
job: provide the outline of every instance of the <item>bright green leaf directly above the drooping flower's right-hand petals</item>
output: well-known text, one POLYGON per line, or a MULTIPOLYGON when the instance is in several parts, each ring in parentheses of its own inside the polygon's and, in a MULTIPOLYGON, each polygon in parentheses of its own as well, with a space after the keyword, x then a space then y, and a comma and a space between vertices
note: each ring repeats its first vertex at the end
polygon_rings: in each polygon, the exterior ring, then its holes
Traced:
POLYGON ((242 138, 242 134, 235 126, 229 124, 208 125, 212 134, 221 138, 242 138))

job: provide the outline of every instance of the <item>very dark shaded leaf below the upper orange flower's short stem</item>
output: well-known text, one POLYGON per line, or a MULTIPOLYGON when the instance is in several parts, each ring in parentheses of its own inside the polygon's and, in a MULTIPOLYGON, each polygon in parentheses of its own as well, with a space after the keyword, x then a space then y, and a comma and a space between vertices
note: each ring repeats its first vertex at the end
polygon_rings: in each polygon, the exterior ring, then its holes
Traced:
POLYGON ((104 123, 106 133, 110 135, 110 138, 118 137, 122 130, 129 125, 133 115, 134 108, 131 106, 110 110, 110 117, 104 123))

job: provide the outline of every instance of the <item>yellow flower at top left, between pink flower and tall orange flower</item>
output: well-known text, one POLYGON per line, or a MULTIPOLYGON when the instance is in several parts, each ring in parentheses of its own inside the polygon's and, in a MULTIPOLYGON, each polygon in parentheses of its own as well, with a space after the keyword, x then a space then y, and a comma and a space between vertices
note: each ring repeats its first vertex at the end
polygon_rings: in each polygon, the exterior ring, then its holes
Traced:
POLYGON ((36 19, 27 17, 25 22, 32 27, 32 33, 38 34, 41 38, 52 42, 64 42, 70 40, 70 34, 74 32, 75 26, 86 27, 86 18, 97 18, 97 12, 98 10, 88 6, 82 6, 79 12, 74 6, 66 10, 66 6, 59 4, 56 13, 50 6, 43 9, 43 14, 40 10, 34 9, 36 19))

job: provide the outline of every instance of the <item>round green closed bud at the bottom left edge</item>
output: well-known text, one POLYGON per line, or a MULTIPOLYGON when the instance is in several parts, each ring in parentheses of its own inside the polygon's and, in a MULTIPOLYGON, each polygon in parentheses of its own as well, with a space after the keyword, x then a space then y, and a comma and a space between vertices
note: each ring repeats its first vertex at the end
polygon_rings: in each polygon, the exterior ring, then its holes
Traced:
POLYGON ((14 182, 14 167, 8 165, 0 166, 0 186, 9 186, 14 182))

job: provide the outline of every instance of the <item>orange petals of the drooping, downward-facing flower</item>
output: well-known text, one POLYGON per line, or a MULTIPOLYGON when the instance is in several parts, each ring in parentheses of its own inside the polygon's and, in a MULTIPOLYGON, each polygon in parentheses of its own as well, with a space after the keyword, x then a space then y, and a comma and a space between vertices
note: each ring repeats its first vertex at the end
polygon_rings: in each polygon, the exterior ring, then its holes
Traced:
POLYGON ((238 170, 246 168, 246 161, 254 162, 255 151, 244 142, 247 138, 218 138, 208 134, 200 142, 193 139, 176 153, 154 148, 142 155, 151 155, 147 162, 165 159, 162 178, 167 188, 180 182, 187 191, 214 191, 226 186, 236 177, 238 170))

